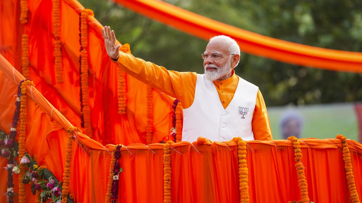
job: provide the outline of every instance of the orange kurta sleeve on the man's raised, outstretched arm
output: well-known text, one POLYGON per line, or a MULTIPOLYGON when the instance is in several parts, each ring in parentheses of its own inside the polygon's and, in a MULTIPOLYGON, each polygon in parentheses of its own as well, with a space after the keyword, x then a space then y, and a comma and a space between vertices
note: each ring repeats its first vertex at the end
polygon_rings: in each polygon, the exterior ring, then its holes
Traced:
POLYGON ((115 63, 130 76, 180 100, 183 108, 194 102, 196 73, 167 70, 123 52, 115 63))

